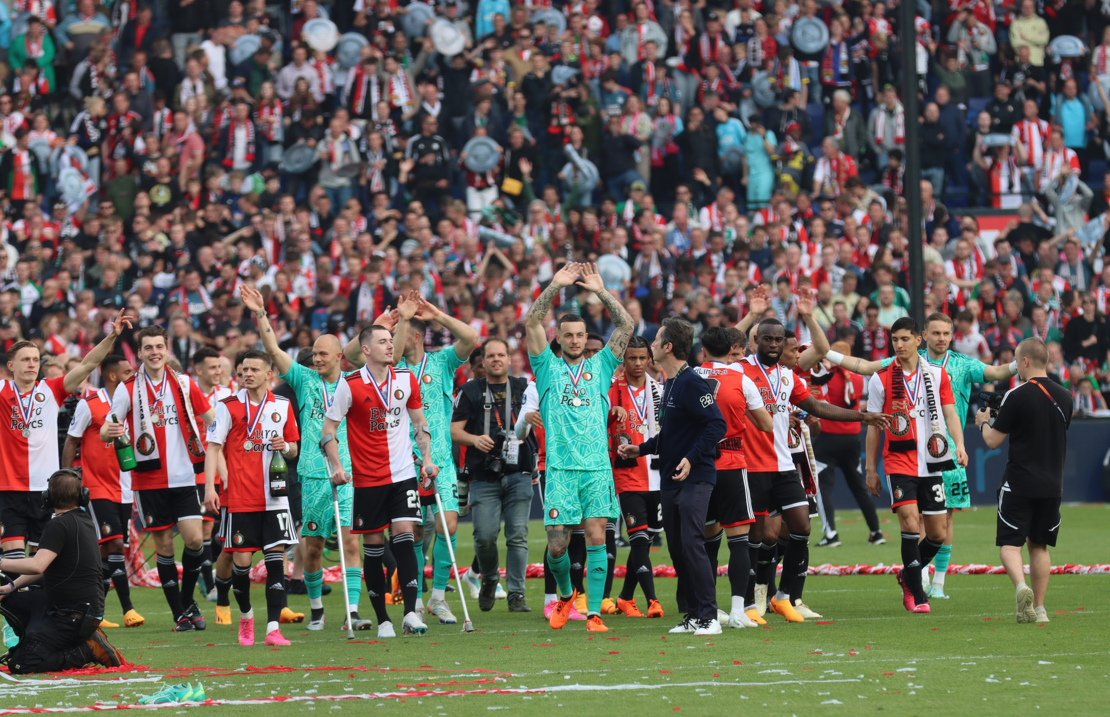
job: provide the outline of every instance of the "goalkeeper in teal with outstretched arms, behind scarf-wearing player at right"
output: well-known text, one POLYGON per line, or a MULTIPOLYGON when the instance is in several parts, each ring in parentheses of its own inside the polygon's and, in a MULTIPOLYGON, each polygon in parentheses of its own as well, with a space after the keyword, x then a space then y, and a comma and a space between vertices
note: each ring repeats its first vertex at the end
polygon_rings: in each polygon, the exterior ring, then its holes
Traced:
MULTIPOLYGON (((931 314, 925 322, 925 341, 927 349, 918 353, 931 364, 942 366, 948 373, 956 397, 956 413, 960 421, 967 422, 968 403, 971 397, 971 386, 977 383, 1008 381, 1018 372, 1017 364, 990 366, 977 358, 949 351, 952 341, 952 320, 945 314, 931 314)), ((889 365, 894 358, 882 361, 864 361, 855 356, 845 356, 830 351, 825 356, 835 364, 865 376, 874 374, 879 368, 889 365)), ((949 440, 951 437, 949 436, 949 440)), ((945 502, 948 506, 948 531, 945 545, 937 553, 934 563, 936 574, 927 593, 929 597, 947 598, 945 595, 945 572, 952 552, 952 511, 971 506, 971 493, 968 488, 968 477, 965 468, 958 466, 955 471, 945 471, 945 502)), ((927 580, 927 578, 926 578, 927 580)))

